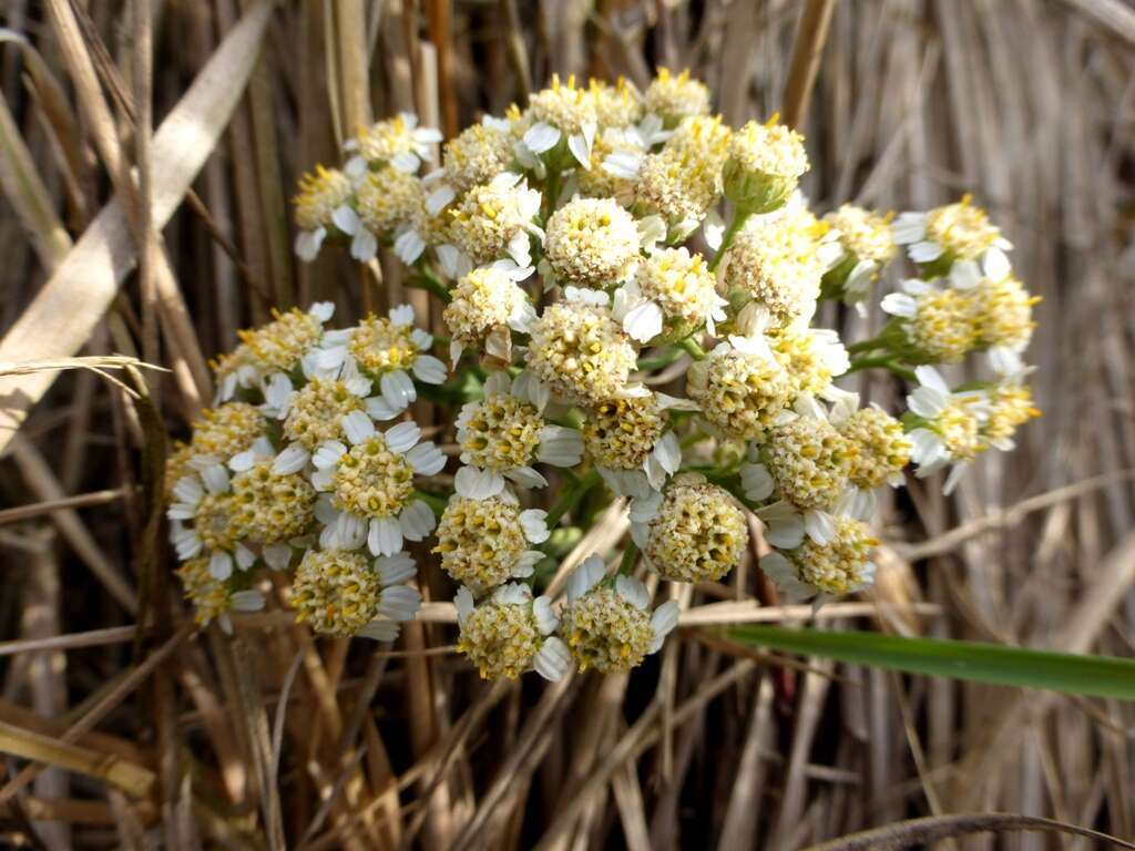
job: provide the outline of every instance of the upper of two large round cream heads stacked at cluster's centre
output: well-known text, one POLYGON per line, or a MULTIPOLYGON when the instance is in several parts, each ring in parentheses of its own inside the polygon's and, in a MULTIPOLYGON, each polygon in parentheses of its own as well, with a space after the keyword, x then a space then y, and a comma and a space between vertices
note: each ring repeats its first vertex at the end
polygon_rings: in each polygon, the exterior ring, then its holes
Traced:
POLYGON ((557 279, 602 289, 634 270, 639 245, 634 218, 612 199, 575 199, 548 219, 544 251, 557 279))

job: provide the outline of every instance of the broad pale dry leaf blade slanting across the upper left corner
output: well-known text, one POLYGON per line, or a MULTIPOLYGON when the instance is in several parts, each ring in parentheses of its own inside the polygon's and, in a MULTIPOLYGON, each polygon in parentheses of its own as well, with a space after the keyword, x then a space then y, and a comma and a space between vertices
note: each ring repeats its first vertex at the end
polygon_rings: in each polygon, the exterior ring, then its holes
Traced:
MULTIPOLYGON (((201 70, 153 136, 152 221, 169 221, 217 144, 252 71, 272 3, 261 0, 201 70)), ((0 362, 74 355, 90 339, 135 262, 126 210, 108 204, 0 340, 0 362)), ((52 372, 0 378, 0 449, 54 380, 52 372)))

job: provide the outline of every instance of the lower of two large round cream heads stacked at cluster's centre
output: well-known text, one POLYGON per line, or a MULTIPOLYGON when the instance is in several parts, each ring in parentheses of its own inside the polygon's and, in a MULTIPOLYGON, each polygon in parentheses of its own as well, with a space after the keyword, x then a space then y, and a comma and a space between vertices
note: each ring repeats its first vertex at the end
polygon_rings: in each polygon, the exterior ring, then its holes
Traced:
POLYGON ((637 363, 630 339, 603 304, 550 304, 531 325, 528 368, 565 399, 595 404, 620 395, 637 363))

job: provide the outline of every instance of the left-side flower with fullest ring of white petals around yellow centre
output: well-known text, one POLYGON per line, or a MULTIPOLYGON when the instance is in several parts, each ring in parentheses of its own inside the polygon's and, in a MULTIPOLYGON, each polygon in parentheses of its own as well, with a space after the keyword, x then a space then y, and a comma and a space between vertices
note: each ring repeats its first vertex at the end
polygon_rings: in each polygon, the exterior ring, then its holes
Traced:
POLYGON ((312 456, 311 483, 330 496, 329 504, 322 504, 321 545, 354 549, 365 540, 371 554, 389 556, 402 549, 403 540, 422 540, 437 521, 429 506, 414 498, 413 477, 440 472, 442 450, 419 443, 421 429, 412 422, 379 433, 373 421, 356 411, 342 424, 350 445, 331 440, 312 456))

